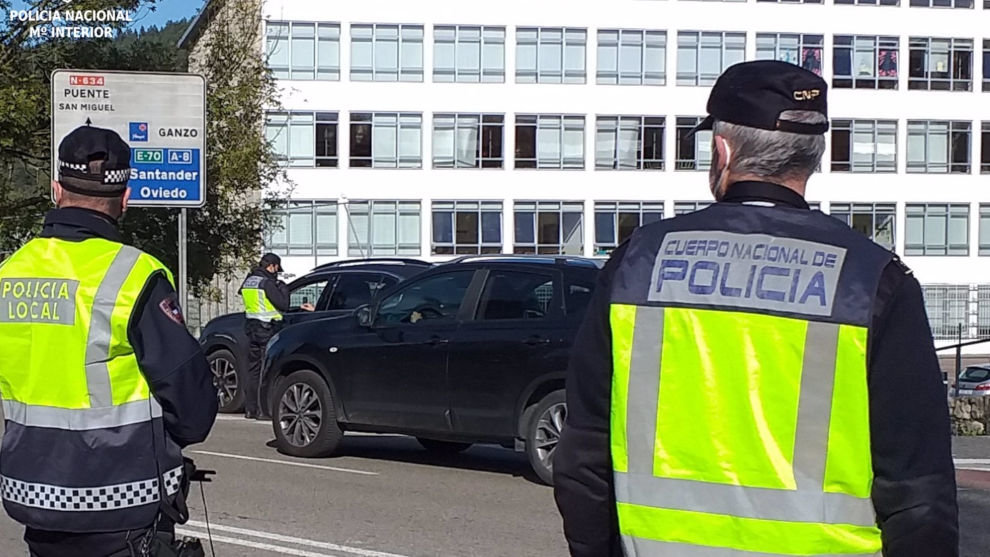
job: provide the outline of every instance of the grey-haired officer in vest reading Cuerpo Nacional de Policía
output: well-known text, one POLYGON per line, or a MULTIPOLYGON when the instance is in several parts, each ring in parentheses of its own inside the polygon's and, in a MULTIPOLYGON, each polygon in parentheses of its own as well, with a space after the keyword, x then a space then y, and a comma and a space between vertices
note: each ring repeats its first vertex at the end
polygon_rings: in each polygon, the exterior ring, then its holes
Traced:
POLYGON ((921 288, 804 200, 825 82, 737 64, 708 113, 717 203, 635 231, 574 343, 554 455, 571 555, 956 557, 921 288))

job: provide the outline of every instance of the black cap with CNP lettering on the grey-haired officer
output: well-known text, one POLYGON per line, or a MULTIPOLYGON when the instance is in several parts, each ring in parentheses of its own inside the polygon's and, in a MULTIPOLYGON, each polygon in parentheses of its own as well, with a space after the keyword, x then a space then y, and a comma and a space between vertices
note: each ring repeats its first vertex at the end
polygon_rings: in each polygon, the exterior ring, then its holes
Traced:
POLYGON ((828 131, 828 84, 802 67, 775 60, 743 62, 730 66, 712 87, 709 116, 692 133, 712 129, 715 120, 761 130, 805 135, 828 131), (821 124, 781 120, 789 110, 818 112, 821 124))

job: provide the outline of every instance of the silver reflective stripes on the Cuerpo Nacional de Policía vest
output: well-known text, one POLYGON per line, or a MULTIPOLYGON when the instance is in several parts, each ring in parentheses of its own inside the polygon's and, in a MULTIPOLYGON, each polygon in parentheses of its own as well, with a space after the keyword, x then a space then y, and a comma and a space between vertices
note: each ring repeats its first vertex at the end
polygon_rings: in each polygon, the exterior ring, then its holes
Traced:
MULTIPOLYGON (((662 396, 660 356, 663 344, 663 312, 663 308, 652 306, 636 308, 626 414, 628 473, 615 472, 616 500, 646 507, 743 518, 875 526, 876 514, 869 498, 824 491, 839 342, 839 325, 832 323, 808 322, 794 442, 796 490, 659 478, 653 475, 657 438, 656 413, 659 397, 662 396)), ((629 538, 623 543, 626 555, 751 555, 736 550, 700 546, 699 553, 688 550, 682 552, 681 547, 694 548, 683 544, 675 544, 677 549, 663 549, 656 545, 656 550, 637 551, 640 542, 648 540, 626 537, 629 538), (629 545, 628 542, 631 541, 636 542, 635 547, 629 545), (705 553, 706 550, 715 552, 705 553)))

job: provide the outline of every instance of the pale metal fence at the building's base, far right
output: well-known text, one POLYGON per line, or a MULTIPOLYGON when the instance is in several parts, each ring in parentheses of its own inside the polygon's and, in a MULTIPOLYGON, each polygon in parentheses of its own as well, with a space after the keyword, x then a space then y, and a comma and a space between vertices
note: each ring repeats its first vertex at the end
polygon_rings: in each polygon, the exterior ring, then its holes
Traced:
POLYGON ((922 286, 925 310, 935 340, 990 337, 990 285, 929 284, 922 286))

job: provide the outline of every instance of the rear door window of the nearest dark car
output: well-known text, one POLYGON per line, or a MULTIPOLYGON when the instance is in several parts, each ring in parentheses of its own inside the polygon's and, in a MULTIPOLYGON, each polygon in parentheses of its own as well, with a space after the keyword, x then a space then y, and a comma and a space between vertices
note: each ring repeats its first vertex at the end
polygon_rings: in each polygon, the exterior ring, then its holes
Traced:
POLYGON ((553 276, 516 271, 492 271, 481 295, 478 318, 547 319, 554 298, 553 276))

